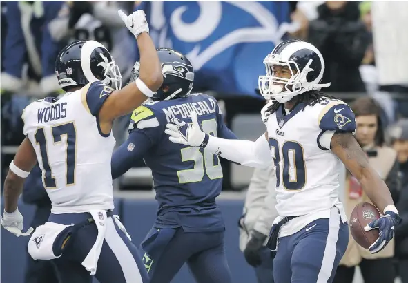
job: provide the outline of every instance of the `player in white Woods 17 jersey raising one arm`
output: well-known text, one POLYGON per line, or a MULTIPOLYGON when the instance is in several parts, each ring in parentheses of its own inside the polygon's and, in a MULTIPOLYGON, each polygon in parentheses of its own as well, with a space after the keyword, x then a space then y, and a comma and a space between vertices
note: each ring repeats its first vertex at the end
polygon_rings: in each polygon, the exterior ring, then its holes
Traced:
POLYGON ((162 85, 159 58, 142 10, 126 16, 140 50, 140 74, 121 89, 115 61, 97 41, 70 43, 59 53, 56 73, 63 97, 45 98, 23 112, 26 138, 4 183, 1 224, 27 235, 17 201, 23 182, 39 163, 52 201, 50 218, 37 227, 28 244, 35 260, 52 260, 60 283, 148 282, 137 248, 117 216, 112 215, 110 158, 115 145, 113 119, 128 114, 162 85), (113 89, 115 87, 115 89, 113 89))

